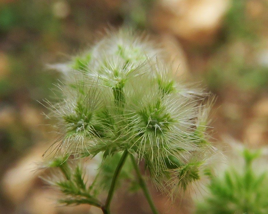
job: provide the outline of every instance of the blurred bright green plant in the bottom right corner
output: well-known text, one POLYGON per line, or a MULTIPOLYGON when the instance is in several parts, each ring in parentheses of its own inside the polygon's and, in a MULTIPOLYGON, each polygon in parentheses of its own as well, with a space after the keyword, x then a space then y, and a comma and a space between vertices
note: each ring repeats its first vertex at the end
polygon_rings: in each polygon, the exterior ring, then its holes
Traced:
POLYGON ((267 169, 254 167, 261 152, 245 148, 242 152, 243 165, 229 166, 221 177, 211 177, 208 195, 197 203, 196 214, 264 214, 267 213, 268 175, 267 169))

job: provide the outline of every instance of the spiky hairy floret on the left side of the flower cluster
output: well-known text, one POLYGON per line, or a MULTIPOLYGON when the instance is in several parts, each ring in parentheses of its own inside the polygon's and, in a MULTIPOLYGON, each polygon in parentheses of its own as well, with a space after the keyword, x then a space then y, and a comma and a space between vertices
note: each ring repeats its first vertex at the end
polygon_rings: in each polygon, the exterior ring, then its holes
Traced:
MULTIPOLYGON (((103 98, 104 90, 97 82, 76 79, 75 85, 61 83, 58 88, 63 94, 59 102, 46 101, 52 111, 48 117, 57 119, 57 132, 62 134, 54 143, 57 154, 80 154, 86 146, 95 146, 97 140, 98 144, 105 144, 107 136, 114 137, 112 118, 103 98)), ((109 100, 109 92, 105 96, 109 100)))

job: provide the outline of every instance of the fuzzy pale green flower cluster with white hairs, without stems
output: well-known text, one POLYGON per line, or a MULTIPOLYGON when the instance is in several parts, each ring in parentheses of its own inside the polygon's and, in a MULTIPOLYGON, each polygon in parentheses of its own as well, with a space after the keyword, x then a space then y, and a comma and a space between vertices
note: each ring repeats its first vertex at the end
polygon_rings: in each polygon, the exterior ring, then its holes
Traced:
POLYGON ((145 160, 163 191, 185 190, 205 173, 213 99, 176 81, 164 54, 121 30, 57 67, 63 98, 50 104, 59 120, 59 153, 104 157, 127 150, 145 160), (176 187, 176 188, 175 188, 176 187))

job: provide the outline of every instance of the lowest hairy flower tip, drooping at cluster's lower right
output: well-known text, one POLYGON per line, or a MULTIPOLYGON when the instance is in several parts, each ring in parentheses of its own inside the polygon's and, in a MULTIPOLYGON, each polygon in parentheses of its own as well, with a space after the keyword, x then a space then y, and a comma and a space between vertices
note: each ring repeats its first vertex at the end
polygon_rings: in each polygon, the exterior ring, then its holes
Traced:
POLYGON ((182 201, 184 196, 189 197, 192 193, 202 189, 213 173, 213 150, 204 149, 181 153, 184 160, 171 155, 166 156, 165 167, 162 171, 159 169, 156 171, 154 165, 148 163, 148 167, 152 167, 150 172, 155 173, 152 176, 155 186, 170 196, 172 201, 176 199, 182 201))

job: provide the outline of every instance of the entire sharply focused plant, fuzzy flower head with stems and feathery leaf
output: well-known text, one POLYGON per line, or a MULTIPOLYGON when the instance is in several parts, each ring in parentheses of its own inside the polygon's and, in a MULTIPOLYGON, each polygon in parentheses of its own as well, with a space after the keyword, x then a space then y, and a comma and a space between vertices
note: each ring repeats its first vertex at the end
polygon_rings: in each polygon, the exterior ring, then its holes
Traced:
MULTIPOLYGON (((207 175, 215 152, 207 134, 213 96, 177 82, 156 45, 128 30, 109 33, 65 64, 62 97, 46 101, 61 134, 45 180, 63 194, 60 203, 87 203, 110 213, 118 179, 143 190, 158 213, 138 168, 144 160, 155 186, 172 198, 207 175), (73 158, 70 158, 73 157, 73 158), (85 159, 101 157, 96 176, 85 159), (129 162, 130 164, 126 164, 129 162), (132 170, 136 171, 135 181, 132 170), (105 202, 98 199, 108 192, 105 202)), ((49 150, 47 151, 49 152, 49 150)))

